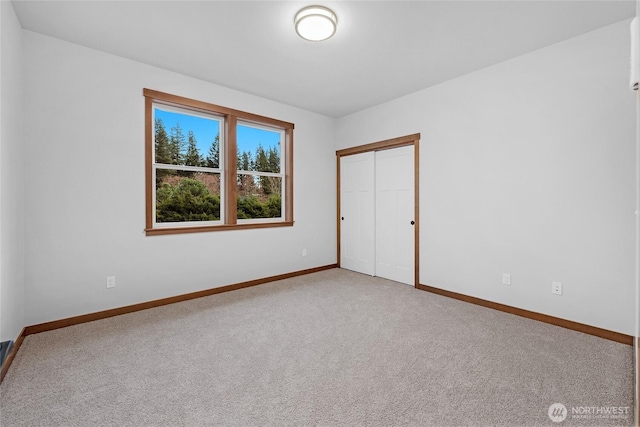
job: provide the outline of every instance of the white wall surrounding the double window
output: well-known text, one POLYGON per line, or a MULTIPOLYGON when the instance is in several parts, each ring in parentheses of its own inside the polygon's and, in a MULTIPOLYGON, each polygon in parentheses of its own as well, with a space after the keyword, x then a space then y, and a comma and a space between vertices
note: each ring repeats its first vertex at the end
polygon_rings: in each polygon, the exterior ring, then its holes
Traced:
POLYGON ((336 262, 333 119, 29 31, 24 46, 27 324, 336 262), (143 88, 295 123, 295 225, 145 236, 143 88))

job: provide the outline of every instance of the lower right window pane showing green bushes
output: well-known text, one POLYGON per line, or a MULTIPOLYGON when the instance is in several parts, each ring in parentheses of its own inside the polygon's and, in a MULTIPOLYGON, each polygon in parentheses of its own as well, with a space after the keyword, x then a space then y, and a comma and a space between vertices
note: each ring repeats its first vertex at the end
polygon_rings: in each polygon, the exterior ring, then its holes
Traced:
POLYGON ((238 174, 238 219, 281 218, 282 178, 238 174))

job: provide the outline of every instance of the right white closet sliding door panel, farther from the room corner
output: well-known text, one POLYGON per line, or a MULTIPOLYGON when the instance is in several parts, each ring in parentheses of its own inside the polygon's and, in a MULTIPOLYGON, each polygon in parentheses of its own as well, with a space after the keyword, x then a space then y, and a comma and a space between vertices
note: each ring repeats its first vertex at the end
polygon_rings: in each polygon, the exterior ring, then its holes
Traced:
POLYGON ((414 285, 414 148, 375 153, 375 275, 414 285))

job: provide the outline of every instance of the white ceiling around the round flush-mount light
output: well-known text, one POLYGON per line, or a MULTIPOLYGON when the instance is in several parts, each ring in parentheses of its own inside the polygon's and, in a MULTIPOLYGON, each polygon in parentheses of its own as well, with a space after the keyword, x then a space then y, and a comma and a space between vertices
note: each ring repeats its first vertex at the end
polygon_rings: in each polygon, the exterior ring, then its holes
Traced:
POLYGON ((635 16, 629 1, 13 1, 22 27, 341 117, 635 16), (295 13, 338 15, 325 42, 295 13))

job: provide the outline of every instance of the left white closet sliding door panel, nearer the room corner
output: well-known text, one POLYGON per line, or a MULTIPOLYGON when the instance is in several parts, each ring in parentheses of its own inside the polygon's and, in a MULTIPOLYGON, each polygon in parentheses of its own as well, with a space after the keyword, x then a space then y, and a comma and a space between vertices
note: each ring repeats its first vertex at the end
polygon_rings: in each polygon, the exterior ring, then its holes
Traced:
POLYGON ((374 153, 340 160, 340 266, 375 274, 374 153))

